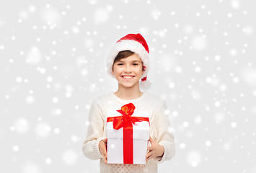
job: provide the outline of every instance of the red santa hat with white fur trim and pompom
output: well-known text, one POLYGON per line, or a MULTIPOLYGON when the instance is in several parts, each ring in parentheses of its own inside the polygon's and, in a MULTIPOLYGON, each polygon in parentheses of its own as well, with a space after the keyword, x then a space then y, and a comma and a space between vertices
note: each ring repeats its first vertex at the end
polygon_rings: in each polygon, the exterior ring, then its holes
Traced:
POLYGON ((142 37, 142 35, 139 33, 125 35, 115 43, 110 51, 110 56, 107 61, 107 71, 112 76, 112 65, 115 57, 118 56, 118 53, 123 50, 131 50, 141 58, 144 66, 144 74, 141 76, 140 87, 143 90, 149 89, 151 86, 151 83, 149 80, 147 80, 147 75, 149 73, 149 46, 144 37, 142 37))

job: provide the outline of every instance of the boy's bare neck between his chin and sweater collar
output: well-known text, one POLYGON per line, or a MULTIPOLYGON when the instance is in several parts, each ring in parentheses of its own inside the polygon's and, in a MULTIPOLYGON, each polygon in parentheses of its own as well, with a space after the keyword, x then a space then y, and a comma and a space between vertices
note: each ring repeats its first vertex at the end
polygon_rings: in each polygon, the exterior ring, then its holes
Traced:
POLYGON ((137 99, 138 97, 141 97, 143 92, 140 91, 139 85, 133 86, 131 88, 124 87, 120 84, 118 84, 118 91, 114 93, 117 97, 120 99, 137 99))

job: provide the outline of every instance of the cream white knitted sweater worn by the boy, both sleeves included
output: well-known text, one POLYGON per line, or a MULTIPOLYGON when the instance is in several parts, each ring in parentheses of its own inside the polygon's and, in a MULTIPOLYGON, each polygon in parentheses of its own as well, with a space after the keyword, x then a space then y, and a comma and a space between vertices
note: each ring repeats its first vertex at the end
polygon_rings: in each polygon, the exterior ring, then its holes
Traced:
MULTIPOLYGON (((157 163, 172 159, 175 154, 175 143, 169 124, 169 111, 164 99, 144 92, 141 97, 133 100, 124 100, 114 93, 98 97, 92 103, 89 112, 89 127, 87 138, 82 144, 84 155, 89 159, 100 159, 100 172, 157 172, 157 163), (157 159, 150 159, 144 164, 105 164, 99 150, 99 142, 106 138, 107 112, 120 110, 132 102, 138 111, 149 112, 150 136, 164 146, 164 155, 157 159)), ((145 156, 146 158, 146 156, 145 156)))

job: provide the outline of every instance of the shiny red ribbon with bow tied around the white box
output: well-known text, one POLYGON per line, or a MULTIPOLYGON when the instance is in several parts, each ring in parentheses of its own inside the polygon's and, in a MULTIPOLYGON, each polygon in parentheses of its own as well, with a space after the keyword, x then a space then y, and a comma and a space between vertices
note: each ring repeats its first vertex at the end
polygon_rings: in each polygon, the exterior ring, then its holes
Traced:
POLYGON ((149 117, 131 117, 135 110, 132 103, 123 105, 121 110, 117 110, 122 115, 118 117, 107 117, 107 122, 113 122, 113 128, 118 130, 123 128, 123 163, 133 164, 133 124, 147 121, 149 117))

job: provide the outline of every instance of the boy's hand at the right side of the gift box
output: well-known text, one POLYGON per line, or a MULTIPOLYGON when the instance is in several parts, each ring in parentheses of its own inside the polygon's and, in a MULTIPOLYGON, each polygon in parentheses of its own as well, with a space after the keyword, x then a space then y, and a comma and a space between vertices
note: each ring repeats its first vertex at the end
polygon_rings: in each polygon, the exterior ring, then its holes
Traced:
POLYGON ((149 137, 149 141, 151 143, 151 146, 148 147, 149 152, 146 154, 146 161, 149 161, 150 159, 154 159, 159 156, 163 156, 164 146, 161 146, 151 137, 149 137))

